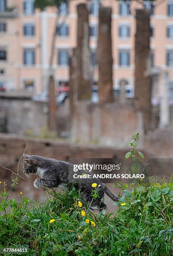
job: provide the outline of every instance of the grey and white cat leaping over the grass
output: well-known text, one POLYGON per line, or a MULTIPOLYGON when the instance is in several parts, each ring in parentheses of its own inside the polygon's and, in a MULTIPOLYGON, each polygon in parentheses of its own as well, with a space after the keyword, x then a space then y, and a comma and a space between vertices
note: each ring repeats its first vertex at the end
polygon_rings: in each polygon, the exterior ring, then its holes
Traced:
MULTIPOLYGON (((67 184, 67 187, 75 187, 75 189, 81 192, 83 200, 90 205, 92 210, 98 210, 99 214, 105 214, 106 204, 104 203, 104 193, 108 195, 113 201, 119 201, 118 197, 108 189, 108 187, 100 182, 99 179, 74 179, 73 164, 65 161, 58 161, 56 159, 45 158, 43 156, 29 156, 24 154, 25 159, 23 165, 23 173, 26 175, 38 174, 40 178, 35 179, 34 187, 39 189, 40 187, 58 188, 63 187, 63 184, 67 184), (96 183, 98 187, 98 197, 93 200, 91 196, 92 184, 96 183), (93 200, 93 201, 92 201, 93 200), (92 201, 92 203, 91 203, 92 201)), ((78 174, 83 175, 90 174, 88 171, 78 170, 78 174)))

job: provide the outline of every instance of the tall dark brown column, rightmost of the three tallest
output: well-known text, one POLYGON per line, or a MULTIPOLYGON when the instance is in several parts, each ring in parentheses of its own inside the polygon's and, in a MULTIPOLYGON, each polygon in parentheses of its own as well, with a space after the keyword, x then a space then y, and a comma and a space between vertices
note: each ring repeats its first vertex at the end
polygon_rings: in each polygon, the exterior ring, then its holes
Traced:
POLYGON ((136 10, 135 34, 135 109, 143 113, 145 133, 151 119, 150 13, 136 10))

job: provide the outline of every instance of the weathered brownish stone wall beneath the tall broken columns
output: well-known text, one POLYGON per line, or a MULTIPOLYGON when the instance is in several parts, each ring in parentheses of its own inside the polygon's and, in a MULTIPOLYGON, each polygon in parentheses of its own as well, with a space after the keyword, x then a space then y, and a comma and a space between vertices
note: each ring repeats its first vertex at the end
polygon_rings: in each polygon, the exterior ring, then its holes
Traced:
POLYGON ((143 134, 142 118, 135 113, 133 105, 118 102, 99 106, 83 101, 75 103, 71 127, 73 142, 88 141, 100 145, 124 148, 132 134, 143 134))

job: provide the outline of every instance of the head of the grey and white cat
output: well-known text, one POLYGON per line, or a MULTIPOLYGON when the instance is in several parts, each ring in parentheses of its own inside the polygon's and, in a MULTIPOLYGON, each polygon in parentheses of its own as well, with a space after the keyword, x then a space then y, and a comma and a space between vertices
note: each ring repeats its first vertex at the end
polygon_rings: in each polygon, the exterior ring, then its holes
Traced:
POLYGON ((23 155, 25 159, 23 159, 23 173, 24 174, 36 174, 38 168, 38 160, 33 159, 32 156, 28 156, 27 154, 23 155))

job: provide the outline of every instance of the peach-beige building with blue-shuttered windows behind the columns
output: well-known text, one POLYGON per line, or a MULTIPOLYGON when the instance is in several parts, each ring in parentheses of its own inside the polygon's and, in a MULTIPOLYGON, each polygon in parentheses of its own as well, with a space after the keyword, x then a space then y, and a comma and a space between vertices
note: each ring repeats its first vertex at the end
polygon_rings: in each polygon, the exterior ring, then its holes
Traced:
MULTIPOLYGON (((50 49, 57 23, 53 56, 56 86, 68 84, 68 55, 76 46, 76 5, 70 0, 59 8, 34 9, 34 0, 0 0, 0 90, 28 88, 38 94, 47 87, 50 49)), ((98 80, 96 64, 99 3, 112 7, 113 85, 122 79, 134 85, 135 9, 139 1, 93 0, 90 9, 90 49, 93 83, 98 80)), ((173 0, 143 1, 151 11, 151 59, 154 67, 168 70, 173 91, 173 0)), ((145 38, 143 38, 145 40, 145 38)), ((157 93, 157 91, 155 92, 157 93)), ((133 93, 128 93, 132 97, 133 93)))

